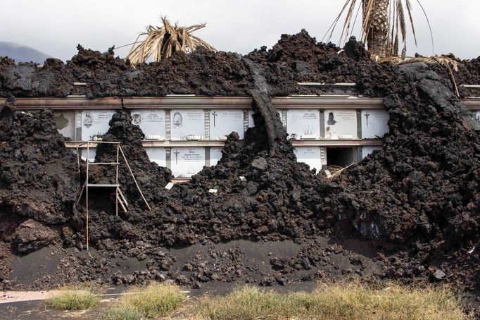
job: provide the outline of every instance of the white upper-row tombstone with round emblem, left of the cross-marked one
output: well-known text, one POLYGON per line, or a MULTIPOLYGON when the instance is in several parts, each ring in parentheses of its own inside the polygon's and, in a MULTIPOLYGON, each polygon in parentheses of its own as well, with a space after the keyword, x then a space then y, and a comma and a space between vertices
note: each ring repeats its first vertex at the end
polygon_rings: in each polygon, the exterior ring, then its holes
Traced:
POLYGON ((172 140, 187 140, 187 135, 203 139, 205 135, 205 113, 202 109, 174 109, 170 111, 172 140))

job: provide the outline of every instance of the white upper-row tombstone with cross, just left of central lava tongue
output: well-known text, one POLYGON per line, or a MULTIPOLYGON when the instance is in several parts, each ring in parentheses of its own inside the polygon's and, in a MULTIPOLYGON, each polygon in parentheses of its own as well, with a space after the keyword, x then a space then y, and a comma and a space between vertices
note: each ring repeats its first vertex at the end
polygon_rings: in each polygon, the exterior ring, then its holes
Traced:
POLYGON ((210 110, 210 140, 220 140, 234 131, 244 139, 243 110, 210 110))

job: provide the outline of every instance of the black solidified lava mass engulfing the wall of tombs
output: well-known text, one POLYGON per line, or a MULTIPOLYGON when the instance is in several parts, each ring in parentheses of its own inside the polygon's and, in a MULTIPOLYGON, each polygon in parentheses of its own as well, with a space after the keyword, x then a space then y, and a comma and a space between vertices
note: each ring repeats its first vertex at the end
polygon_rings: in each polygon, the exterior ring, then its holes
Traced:
MULTIPOLYGON (((151 163, 141 148, 141 130, 124 111, 115 114, 103 140, 122 142, 152 211, 123 174, 134 209, 115 216, 108 193, 93 195, 93 248, 86 253, 84 210, 75 205, 81 183, 75 156, 64 148, 53 114, 4 107, 4 288, 166 278, 198 288, 208 282, 286 285, 361 277, 478 290, 479 123, 453 94, 445 70, 375 63, 354 39, 339 51, 302 31, 246 56, 199 49, 137 68, 113 51, 102 55, 81 47, 66 65, 1 59, 4 97, 242 95, 253 97, 255 111, 245 144, 232 133, 217 166, 171 190, 163 188, 168 169, 151 163), (85 92, 76 92, 73 82, 87 82, 85 92), (322 94, 297 82, 356 82, 360 94, 385 97, 385 147, 333 183, 297 163, 271 104, 276 96, 322 94), (27 268, 34 257, 44 261, 36 276, 27 268)), ((479 74, 479 64, 470 61, 457 76, 474 83, 479 74)), ((97 152, 101 161, 114 156, 108 147, 97 152)), ((94 181, 105 178, 101 169, 91 173, 94 181)))

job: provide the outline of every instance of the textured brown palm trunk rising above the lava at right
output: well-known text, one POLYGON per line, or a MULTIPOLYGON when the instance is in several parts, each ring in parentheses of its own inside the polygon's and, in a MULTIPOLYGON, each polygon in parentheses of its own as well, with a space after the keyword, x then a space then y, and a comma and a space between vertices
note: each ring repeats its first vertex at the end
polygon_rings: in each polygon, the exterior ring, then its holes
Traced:
POLYGON ((363 20, 370 20, 367 25, 367 46, 373 56, 386 54, 389 39, 389 2, 390 0, 362 0, 363 20), (365 8, 367 3, 374 1, 370 17, 367 17, 365 8))

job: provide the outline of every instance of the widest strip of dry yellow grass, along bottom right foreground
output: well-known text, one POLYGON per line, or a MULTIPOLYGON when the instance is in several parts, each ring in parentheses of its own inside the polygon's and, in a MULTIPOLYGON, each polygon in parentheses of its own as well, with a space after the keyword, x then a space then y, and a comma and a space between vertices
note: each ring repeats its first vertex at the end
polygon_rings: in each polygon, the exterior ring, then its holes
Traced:
POLYGON ((465 319, 448 288, 369 288, 359 283, 323 284, 313 293, 281 295, 253 287, 224 297, 201 297, 188 319, 465 319))

